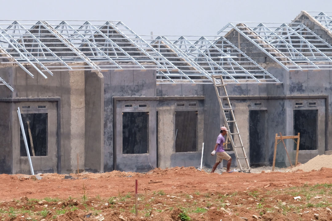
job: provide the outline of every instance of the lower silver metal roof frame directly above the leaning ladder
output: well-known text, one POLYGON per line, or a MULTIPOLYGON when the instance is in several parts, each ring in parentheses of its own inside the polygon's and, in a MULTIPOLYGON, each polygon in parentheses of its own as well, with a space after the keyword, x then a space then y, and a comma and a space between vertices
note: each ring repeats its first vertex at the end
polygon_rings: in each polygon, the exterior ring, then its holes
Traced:
POLYGON ((171 37, 158 36, 151 45, 195 83, 211 83, 211 75, 222 75, 226 83, 280 83, 224 37, 171 37))

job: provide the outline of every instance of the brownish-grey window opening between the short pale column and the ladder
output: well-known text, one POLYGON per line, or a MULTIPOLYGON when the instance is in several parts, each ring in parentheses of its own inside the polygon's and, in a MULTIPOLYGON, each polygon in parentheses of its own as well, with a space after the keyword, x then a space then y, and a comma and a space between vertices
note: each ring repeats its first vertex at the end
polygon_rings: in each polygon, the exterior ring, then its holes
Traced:
POLYGON ((175 152, 197 151, 196 111, 175 112, 175 152))

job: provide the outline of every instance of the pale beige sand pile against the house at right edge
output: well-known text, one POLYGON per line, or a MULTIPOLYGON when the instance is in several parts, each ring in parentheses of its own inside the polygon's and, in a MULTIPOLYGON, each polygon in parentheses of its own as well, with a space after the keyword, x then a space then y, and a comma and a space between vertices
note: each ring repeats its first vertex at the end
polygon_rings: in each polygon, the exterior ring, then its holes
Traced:
POLYGON ((332 168, 332 155, 315 156, 308 162, 290 169, 290 172, 296 170, 303 170, 305 172, 309 172, 311 170, 320 170, 322 167, 332 168))

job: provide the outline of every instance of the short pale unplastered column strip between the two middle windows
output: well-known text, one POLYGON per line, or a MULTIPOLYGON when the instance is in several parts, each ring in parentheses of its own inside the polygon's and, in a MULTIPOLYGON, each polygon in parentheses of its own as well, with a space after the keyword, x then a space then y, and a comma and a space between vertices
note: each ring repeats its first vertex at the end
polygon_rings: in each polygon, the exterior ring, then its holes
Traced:
MULTIPOLYGON (((171 165, 171 155, 175 152, 174 107, 158 108, 158 161, 164 169, 171 165)), ((157 165, 158 166, 158 165, 157 165)))

